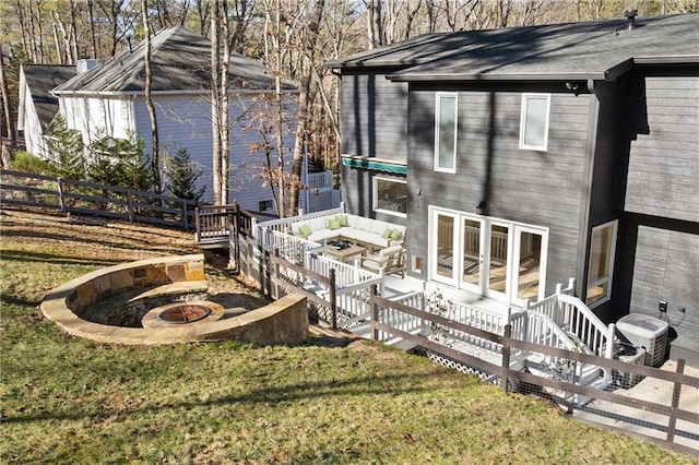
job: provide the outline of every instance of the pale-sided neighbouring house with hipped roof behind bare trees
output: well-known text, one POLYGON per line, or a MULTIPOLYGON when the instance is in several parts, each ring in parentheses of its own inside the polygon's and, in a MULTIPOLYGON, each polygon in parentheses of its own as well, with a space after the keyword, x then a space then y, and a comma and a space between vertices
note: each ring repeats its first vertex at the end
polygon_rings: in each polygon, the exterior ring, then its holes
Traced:
MULTIPOLYGON (((183 26, 155 35, 152 46, 152 98, 157 112, 161 151, 175 154, 187 148, 202 170, 200 186, 206 186, 204 202, 213 199, 212 109, 211 109, 211 41, 183 26)), ((70 129, 82 133, 86 144, 110 135, 127 138, 135 134, 145 141, 151 153, 151 120, 145 106, 145 44, 126 50, 94 68, 58 85, 52 93, 59 99, 60 112, 70 129)), ((262 171, 265 156, 250 154, 250 144, 261 142, 260 123, 256 117, 265 110, 265 95, 274 92, 274 75, 257 61, 233 53, 228 73, 230 170, 228 198, 244 208, 264 211, 271 205, 269 187, 256 178, 262 171)), ((294 83, 283 81, 287 102, 288 133, 285 146, 294 146, 296 94, 294 83)), ((268 134, 270 139, 273 134, 268 134)), ((289 157, 291 159, 291 157, 289 157)), ((272 153, 276 160, 276 152, 272 153)), ((289 164, 291 167, 291 164, 289 164)))

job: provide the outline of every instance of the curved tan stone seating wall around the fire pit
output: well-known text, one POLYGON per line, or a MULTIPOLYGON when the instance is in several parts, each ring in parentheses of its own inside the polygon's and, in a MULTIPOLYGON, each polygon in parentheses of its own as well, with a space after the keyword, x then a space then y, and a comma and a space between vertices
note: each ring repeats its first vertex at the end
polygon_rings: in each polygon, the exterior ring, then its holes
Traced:
MULTIPOLYGON (((99 320, 108 314, 114 319, 114 311, 108 307, 99 317, 98 303, 108 299, 118 300, 120 294, 144 289, 143 294, 128 300, 133 307, 145 298, 156 299, 159 298, 158 294, 167 295, 168 289, 173 288, 183 289, 185 299, 190 291, 190 297, 197 298, 201 296, 202 286, 205 291, 208 286, 202 254, 158 258, 85 274, 54 289, 40 307, 44 315, 67 333, 100 343, 140 345, 235 338, 253 344, 296 344, 308 337, 306 298, 295 295, 235 318, 211 322, 204 319, 158 329, 107 325, 85 318, 99 320), (88 309, 91 314, 86 314, 88 309)), ((181 293, 175 294, 179 296, 181 293)), ((177 299, 183 300, 181 296, 177 299)))

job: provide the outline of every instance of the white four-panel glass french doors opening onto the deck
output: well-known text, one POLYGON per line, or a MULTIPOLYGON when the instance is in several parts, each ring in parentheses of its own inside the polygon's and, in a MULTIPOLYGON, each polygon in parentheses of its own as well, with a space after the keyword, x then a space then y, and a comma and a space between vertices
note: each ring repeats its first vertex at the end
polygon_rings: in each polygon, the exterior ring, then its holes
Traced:
POLYGON ((508 303, 544 296, 547 230, 430 208, 430 276, 508 303))

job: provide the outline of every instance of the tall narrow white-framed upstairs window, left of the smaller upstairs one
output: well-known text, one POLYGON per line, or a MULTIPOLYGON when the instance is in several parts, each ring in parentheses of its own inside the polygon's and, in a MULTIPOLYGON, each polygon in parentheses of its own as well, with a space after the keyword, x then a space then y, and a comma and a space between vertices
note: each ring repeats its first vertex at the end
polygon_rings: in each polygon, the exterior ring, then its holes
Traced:
POLYGON ((435 171, 457 172, 457 94, 437 93, 435 171))

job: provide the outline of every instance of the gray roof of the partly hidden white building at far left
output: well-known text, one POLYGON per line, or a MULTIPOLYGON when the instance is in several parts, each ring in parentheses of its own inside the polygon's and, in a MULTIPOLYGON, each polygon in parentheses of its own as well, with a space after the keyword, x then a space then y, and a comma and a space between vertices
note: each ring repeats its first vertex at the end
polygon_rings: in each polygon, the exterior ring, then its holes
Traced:
POLYGON ((51 90, 73 78, 75 65, 22 63, 22 71, 44 131, 58 112, 58 98, 51 90))

